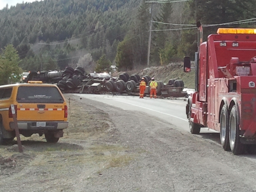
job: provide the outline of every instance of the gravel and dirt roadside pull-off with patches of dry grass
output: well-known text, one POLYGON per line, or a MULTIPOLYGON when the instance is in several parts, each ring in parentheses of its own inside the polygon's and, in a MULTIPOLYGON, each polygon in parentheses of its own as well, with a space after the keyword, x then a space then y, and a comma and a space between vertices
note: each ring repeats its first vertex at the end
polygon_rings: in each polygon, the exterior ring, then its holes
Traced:
POLYGON ((255 155, 234 156, 143 112, 66 98, 70 127, 57 144, 32 136, 22 138, 25 154, 0 147, 1 192, 256 191, 255 155))

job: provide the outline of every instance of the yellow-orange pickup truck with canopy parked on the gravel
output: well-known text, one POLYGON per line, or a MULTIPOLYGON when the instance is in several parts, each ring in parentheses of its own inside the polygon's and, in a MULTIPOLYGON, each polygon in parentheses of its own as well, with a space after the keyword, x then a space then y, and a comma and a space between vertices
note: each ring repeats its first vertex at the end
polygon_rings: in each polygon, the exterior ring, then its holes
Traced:
POLYGON ((0 86, 0 144, 15 137, 11 104, 14 104, 20 134, 44 134, 46 141, 58 142, 68 128, 68 108, 54 84, 30 81, 0 86))

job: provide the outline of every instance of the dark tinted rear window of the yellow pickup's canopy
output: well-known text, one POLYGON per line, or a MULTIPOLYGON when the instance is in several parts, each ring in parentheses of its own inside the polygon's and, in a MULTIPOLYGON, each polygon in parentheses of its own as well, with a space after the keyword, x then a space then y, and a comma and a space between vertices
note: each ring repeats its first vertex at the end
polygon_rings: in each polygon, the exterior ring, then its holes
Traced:
POLYGON ((17 93, 19 103, 63 103, 64 100, 56 87, 20 86, 17 93))

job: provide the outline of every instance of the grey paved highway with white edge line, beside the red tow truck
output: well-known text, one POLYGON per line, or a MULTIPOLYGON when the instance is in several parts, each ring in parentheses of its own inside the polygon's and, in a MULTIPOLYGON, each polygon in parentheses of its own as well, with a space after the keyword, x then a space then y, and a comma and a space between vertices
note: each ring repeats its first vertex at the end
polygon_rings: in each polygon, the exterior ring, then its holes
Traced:
MULTIPOLYGON (((188 120, 186 117, 186 101, 167 99, 141 99, 138 96, 112 96, 78 94, 80 98, 87 98, 105 104, 122 108, 124 110, 137 110, 150 116, 171 123, 176 129, 189 132, 188 120)), ((214 133, 215 131, 202 128, 200 133, 214 133)))

